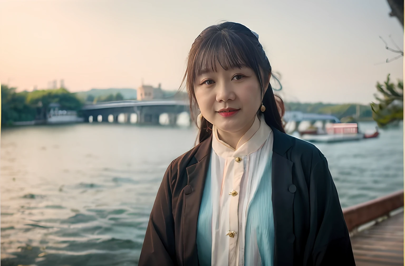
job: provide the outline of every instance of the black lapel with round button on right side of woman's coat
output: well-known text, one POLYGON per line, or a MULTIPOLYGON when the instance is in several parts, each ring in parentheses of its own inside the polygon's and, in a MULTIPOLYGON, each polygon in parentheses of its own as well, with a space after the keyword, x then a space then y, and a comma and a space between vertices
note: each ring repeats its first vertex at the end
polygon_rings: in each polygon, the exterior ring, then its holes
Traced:
POLYGON ((286 151, 292 146, 290 137, 273 129, 272 197, 275 247, 274 265, 292 265, 294 257, 293 202, 296 187, 292 184, 292 161, 286 151))

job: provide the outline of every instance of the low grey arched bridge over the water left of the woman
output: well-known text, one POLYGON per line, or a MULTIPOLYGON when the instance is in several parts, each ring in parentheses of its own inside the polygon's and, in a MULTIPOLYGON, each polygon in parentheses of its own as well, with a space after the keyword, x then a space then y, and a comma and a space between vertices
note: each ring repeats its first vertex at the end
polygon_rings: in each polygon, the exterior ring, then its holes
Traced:
POLYGON ((118 116, 124 114, 125 122, 130 122, 132 114, 136 114, 137 124, 159 124, 161 114, 168 114, 169 124, 176 124, 177 115, 182 112, 190 112, 188 101, 160 100, 160 101, 114 101, 84 105, 81 109, 85 122, 93 121, 108 122, 108 116, 112 115, 113 122, 118 122, 118 116), (101 118, 101 119, 100 119, 101 118), (91 118, 90 118, 91 119, 91 118))

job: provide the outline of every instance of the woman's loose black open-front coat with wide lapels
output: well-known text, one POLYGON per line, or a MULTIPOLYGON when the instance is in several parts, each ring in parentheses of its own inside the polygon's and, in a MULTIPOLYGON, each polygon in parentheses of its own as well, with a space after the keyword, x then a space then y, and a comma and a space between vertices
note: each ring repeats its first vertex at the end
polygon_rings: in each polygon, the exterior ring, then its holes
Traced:
MULTIPOLYGON (((324 155, 273 128, 275 266, 355 265, 349 233, 324 155)), ((164 175, 139 266, 197 266, 196 232, 212 135, 164 175)))

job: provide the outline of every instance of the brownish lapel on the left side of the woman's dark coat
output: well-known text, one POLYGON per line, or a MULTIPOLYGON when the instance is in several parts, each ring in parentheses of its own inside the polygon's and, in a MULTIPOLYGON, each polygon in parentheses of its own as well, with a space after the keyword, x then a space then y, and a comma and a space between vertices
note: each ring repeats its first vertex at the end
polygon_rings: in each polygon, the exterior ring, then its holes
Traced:
POLYGON ((186 167, 188 191, 184 190, 183 265, 198 265, 197 222, 211 159, 211 143, 212 135, 201 142, 196 154, 194 154, 194 164, 186 167))

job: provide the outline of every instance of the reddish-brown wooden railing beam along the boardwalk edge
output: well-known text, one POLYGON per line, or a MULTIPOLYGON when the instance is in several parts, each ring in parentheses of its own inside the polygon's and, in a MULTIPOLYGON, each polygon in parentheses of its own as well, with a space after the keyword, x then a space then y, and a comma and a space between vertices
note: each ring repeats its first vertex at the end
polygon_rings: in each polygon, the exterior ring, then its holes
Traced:
POLYGON ((398 191, 375 200, 370 200, 343 209, 347 230, 351 232, 360 225, 388 215, 392 210, 404 206, 404 191, 398 191))

